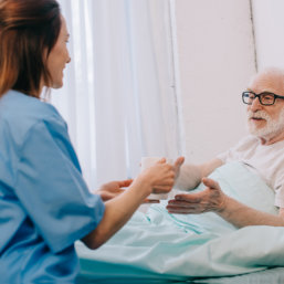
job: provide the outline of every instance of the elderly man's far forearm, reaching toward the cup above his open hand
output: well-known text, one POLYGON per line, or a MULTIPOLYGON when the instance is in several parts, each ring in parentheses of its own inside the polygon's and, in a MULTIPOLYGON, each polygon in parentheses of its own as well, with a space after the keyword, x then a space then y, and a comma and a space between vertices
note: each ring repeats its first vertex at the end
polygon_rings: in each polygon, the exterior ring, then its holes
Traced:
POLYGON ((203 177, 209 176, 214 169, 222 165, 223 162, 218 158, 202 165, 183 164, 179 172, 177 172, 178 178, 175 188, 180 190, 194 189, 203 177))

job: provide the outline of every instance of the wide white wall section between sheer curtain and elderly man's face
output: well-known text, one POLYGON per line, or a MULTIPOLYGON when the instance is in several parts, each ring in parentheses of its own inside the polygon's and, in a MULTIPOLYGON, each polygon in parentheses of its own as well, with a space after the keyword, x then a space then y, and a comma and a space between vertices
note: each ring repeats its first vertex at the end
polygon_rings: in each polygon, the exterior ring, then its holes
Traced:
POLYGON ((241 92, 255 73, 250 2, 176 0, 175 9, 183 155, 201 162, 246 134, 241 92))

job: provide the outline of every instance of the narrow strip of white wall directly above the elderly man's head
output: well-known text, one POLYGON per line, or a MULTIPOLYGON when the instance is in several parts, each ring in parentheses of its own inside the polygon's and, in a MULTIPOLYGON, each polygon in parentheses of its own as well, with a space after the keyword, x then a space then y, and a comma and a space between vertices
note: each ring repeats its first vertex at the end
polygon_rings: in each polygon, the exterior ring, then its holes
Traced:
POLYGON ((284 1, 253 0, 253 22, 259 70, 284 67, 284 1))

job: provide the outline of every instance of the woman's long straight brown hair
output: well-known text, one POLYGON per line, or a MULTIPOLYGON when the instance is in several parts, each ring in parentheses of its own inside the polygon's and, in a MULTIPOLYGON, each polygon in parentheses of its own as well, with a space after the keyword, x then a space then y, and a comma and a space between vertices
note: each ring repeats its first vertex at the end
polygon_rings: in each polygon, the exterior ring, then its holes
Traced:
POLYGON ((0 0, 0 96, 12 88, 39 97, 41 81, 51 84, 46 57, 60 29, 55 0, 0 0))

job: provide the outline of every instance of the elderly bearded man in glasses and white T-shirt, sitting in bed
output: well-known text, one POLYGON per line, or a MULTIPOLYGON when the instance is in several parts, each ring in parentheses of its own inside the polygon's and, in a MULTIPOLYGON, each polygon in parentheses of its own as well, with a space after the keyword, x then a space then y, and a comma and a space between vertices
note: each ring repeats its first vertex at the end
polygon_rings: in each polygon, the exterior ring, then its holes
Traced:
POLYGON ((212 211, 238 228, 245 225, 284 225, 284 71, 267 69, 256 74, 245 92, 248 123, 251 136, 235 147, 203 165, 185 164, 177 187, 190 190, 201 181, 206 190, 177 194, 169 200, 170 213, 202 213, 212 211), (241 161, 254 169, 275 191, 278 215, 244 206, 225 196, 219 183, 206 178, 229 161, 241 161))

